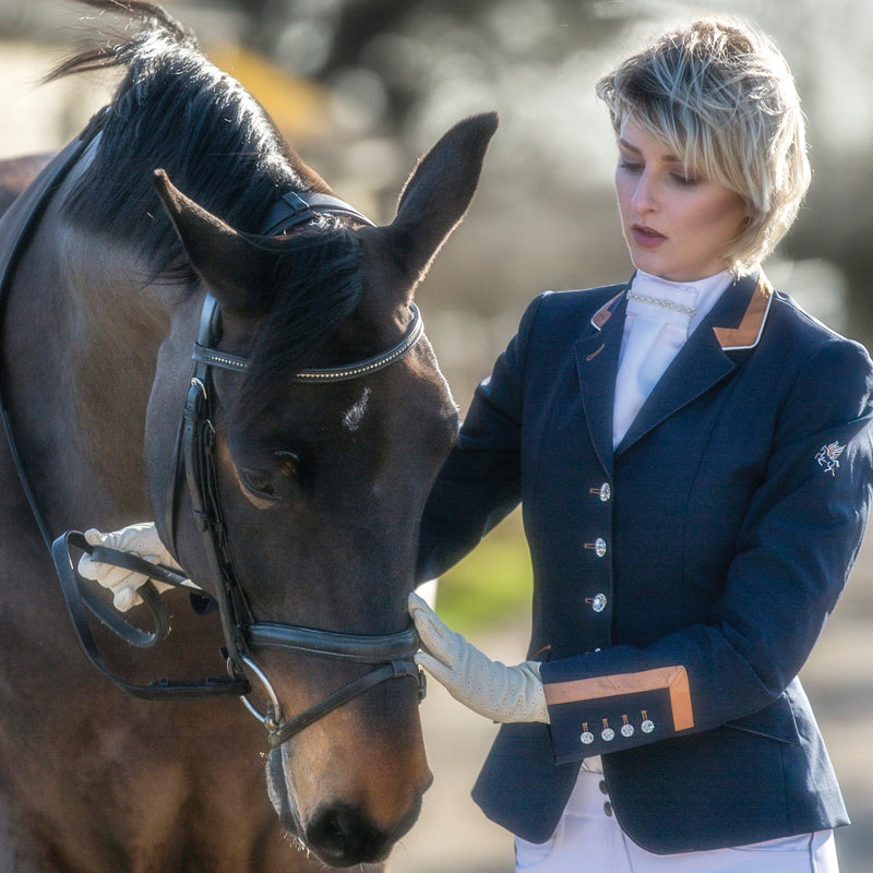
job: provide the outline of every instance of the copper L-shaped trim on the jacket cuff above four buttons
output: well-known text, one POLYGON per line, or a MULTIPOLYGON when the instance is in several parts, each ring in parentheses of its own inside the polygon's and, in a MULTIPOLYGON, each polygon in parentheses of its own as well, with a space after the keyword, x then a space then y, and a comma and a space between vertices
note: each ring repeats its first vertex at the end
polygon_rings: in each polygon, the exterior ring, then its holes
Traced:
POLYGON ((576 679, 570 682, 555 682, 554 684, 545 684, 543 687, 546 703, 549 706, 666 689, 670 693, 673 730, 687 730, 694 727, 689 674, 681 666, 659 667, 655 670, 643 670, 639 673, 617 673, 591 679, 576 679))

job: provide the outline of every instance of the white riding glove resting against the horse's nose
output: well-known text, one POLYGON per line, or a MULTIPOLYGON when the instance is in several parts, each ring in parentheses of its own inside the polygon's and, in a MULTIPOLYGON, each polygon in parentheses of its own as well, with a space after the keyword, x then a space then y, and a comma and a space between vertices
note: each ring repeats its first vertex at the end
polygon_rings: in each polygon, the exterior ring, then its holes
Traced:
POLYGON ((421 637, 416 663, 445 685, 456 701, 493 721, 549 722, 537 661, 517 667, 492 661, 446 627, 416 594, 409 595, 409 614, 421 637))

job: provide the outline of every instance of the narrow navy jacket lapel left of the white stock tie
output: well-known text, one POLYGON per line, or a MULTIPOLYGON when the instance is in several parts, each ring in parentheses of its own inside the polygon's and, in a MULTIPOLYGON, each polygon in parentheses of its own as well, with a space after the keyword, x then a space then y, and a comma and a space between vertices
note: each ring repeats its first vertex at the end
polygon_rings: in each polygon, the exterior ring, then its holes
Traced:
POLYGON ((621 291, 595 313, 590 335, 575 346, 585 419, 597 456, 610 478, 612 406, 626 307, 626 297, 621 291))

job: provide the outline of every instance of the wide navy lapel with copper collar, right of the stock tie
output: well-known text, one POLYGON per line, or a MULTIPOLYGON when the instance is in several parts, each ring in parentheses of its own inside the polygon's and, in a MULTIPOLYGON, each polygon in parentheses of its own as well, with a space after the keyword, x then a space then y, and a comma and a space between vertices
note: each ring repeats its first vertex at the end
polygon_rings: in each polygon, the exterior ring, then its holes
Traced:
MULTIPOLYGON (((772 298, 763 273, 740 279, 721 295, 655 385, 617 455, 733 372, 734 352, 760 342, 772 298)), ((612 385, 614 390, 614 375, 612 385)))

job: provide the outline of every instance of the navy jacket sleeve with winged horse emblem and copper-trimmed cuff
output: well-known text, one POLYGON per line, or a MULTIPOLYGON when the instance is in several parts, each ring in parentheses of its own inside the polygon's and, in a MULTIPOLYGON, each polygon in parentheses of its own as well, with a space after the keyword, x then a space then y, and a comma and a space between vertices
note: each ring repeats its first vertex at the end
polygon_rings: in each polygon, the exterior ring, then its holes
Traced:
POLYGON ((705 731, 764 710, 806 660, 846 584, 873 495, 873 374, 828 339, 779 415, 706 623, 645 648, 542 665, 555 761, 705 731))

